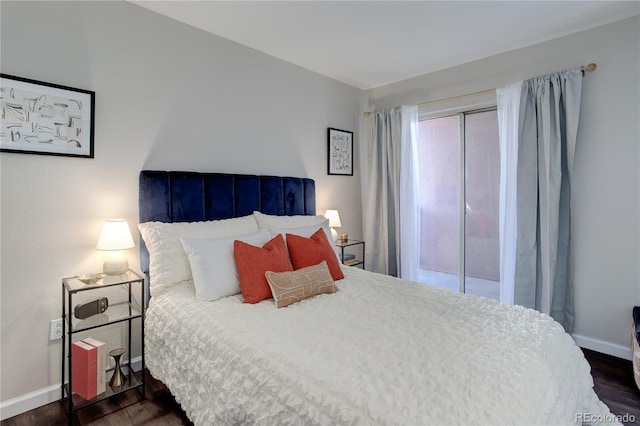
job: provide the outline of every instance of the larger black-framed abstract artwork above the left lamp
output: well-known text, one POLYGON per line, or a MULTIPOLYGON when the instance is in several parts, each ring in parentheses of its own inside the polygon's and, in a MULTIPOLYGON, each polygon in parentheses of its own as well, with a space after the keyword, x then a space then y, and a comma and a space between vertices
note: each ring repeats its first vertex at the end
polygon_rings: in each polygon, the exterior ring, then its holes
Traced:
POLYGON ((0 151, 93 158, 95 92, 0 74, 0 151))

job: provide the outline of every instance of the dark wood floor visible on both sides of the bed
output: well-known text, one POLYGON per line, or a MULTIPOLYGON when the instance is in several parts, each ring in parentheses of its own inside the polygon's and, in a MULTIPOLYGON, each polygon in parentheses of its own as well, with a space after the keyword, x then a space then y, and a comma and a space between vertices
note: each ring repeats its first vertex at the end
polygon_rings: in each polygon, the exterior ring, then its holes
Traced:
MULTIPOLYGON (((631 361, 584 350, 591 364, 594 388, 611 412, 635 417, 640 425, 640 391, 633 381, 631 361)), ((171 393, 147 372, 147 398, 138 391, 127 392, 87 407, 74 414, 74 425, 191 425, 171 393)), ((66 409, 61 402, 37 408, 1 422, 1 426, 65 425, 66 409)))

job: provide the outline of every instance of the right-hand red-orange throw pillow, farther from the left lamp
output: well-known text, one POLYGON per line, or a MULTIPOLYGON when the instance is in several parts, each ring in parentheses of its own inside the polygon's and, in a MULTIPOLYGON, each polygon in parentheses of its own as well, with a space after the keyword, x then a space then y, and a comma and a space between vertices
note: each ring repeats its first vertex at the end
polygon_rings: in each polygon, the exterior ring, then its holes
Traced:
POLYGON ((344 278, 336 252, 331 247, 322 228, 318 229, 310 238, 287 234, 287 246, 294 269, 317 265, 324 260, 327 262, 331 278, 334 281, 344 278))

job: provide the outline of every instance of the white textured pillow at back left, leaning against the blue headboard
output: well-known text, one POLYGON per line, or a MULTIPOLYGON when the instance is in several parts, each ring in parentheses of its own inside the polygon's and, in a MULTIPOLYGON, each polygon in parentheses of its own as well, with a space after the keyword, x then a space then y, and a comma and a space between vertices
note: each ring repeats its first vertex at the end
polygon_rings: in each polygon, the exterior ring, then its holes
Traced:
POLYGON ((149 286, 167 287, 191 279, 180 238, 223 238, 258 232, 253 215, 207 222, 146 222, 138 225, 149 250, 149 286))

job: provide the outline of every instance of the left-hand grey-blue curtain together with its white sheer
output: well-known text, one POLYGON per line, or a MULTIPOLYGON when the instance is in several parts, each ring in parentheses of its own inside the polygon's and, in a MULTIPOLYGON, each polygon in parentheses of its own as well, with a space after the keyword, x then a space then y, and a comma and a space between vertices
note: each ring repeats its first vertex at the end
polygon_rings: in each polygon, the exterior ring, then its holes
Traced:
POLYGON ((366 263, 409 280, 418 276, 417 143, 417 106, 371 114, 363 162, 366 263))

